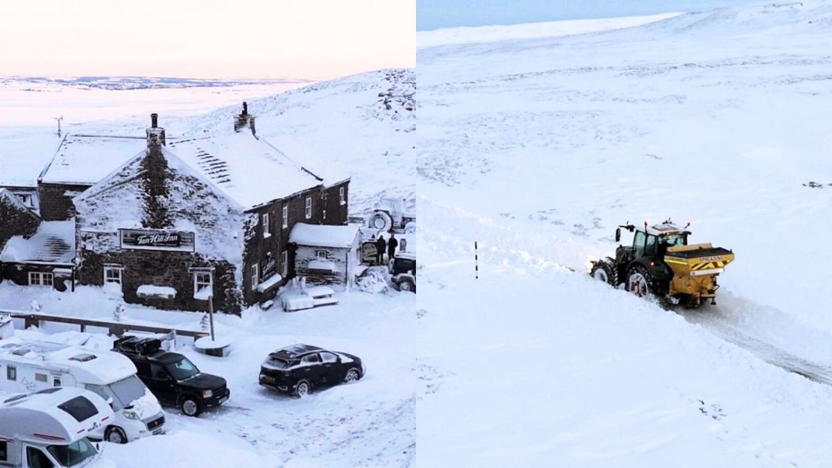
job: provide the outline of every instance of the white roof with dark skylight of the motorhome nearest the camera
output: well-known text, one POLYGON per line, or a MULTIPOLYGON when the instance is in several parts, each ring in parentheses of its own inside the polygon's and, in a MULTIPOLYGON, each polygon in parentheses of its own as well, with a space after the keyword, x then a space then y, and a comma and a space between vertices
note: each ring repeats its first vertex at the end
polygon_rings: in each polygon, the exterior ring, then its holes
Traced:
POLYGON ((72 443, 89 436, 93 422, 113 416, 101 396, 73 387, 54 387, 28 395, 16 396, 0 403, 0 436, 48 443, 72 443), (96 413, 77 421, 58 406, 82 396, 96 408, 96 413))

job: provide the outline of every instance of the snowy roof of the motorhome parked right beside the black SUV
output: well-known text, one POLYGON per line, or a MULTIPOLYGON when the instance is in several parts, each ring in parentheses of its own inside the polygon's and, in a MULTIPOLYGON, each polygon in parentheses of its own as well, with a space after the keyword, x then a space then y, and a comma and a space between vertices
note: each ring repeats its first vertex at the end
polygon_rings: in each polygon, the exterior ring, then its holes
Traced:
POLYGON ((107 385, 136 374, 130 359, 117 352, 90 351, 16 336, 0 340, 0 359, 32 366, 62 366, 70 369, 79 383, 92 385, 107 385))

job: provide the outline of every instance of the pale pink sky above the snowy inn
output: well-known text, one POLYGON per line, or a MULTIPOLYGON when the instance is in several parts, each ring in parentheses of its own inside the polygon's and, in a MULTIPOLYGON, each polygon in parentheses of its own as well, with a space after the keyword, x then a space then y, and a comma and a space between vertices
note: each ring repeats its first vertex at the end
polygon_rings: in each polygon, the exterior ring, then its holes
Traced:
POLYGON ((327 78, 416 64, 415 0, 3 3, 3 76, 327 78))

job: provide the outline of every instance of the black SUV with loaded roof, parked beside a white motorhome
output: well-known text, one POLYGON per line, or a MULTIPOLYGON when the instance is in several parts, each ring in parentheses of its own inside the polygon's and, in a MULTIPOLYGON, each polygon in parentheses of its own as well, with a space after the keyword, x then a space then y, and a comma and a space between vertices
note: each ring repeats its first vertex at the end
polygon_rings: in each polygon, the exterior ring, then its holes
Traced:
POLYGON ((161 349, 156 338, 125 336, 113 343, 112 351, 133 361, 136 375, 159 401, 179 407, 187 416, 220 406, 231 394, 224 378, 200 372, 187 357, 161 349))

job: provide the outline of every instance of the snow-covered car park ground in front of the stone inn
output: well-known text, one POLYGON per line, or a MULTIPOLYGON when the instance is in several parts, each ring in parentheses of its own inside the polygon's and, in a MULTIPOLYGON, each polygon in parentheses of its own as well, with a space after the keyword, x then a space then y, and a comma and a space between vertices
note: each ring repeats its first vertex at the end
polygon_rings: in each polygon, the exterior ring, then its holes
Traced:
MULTIPOLYGON (((99 287, 61 293, 8 281, 0 283, 0 298, 3 308, 29 310, 37 301, 43 312, 100 320, 112 320, 121 302, 99 287)), ((232 346, 224 358, 198 354, 189 339, 181 338, 176 351, 201 371, 225 377, 230 400, 198 418, 167 407, 166 436, 127 446, 106 444, 105 459, 120 467, 146 466, 148 460, 161 466, 229 466, 238 458, 252 466, 407 466, 415 446, 415 296, 354 291, 339 299, 337 306, 291 313, 275 306, 251 308, 242 317, 216 315, 216 335, 232 346), (260 362, 295 343, 355 354, 367 375, 302 400, 261 387, 260 362), (171 452, 174 446, 179 448, 171 452)), ((122 321, 200 330, 201 319, 199 313, 127 305, 122 321)), ((77 326, 62 324, 44 324, 41 331, 49 335, 18 334, 74 343, 88 337, 77 326)), ((97 337, 90 344, 107 349, 110 343, 97 337)))

